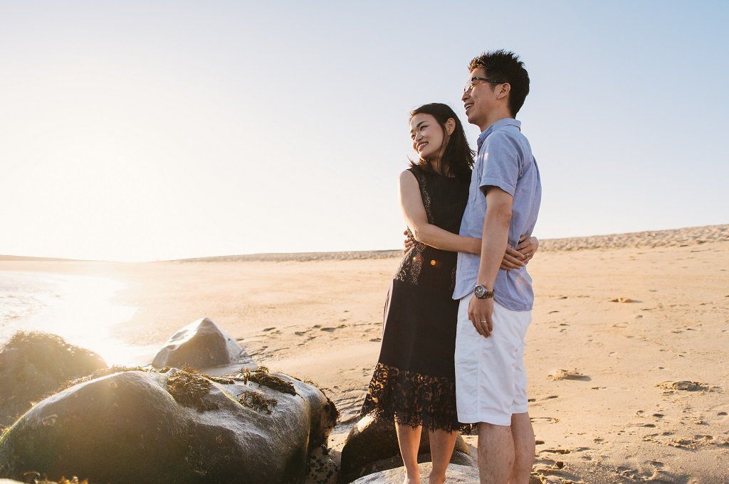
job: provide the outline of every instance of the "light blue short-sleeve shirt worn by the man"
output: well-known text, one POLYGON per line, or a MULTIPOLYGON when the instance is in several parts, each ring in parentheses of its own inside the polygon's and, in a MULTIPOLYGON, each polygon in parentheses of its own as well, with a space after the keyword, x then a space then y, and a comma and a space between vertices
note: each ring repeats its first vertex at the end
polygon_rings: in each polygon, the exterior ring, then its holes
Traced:
MULTIPOLYGON (((471 175, 468 205, 461 221, 460 234, 478 239, 482 237, 483 218, 486 216, 485 189, 497 186, 514 197, 509 245, 516 247, 519 238, 531 235, 537 223, 542 200, 537 160, 531 154, 526 136, 521 134, 521 122, 516 119, 499 119, 491 124, 480 134, 477 144, 478 156, 471 175)), ((479 263, 479 255, 459 252, 453 299, 473 292, 479 263)), ((526 267, 512 271, 499 269, 494 282, 494 299, 512 311, 531 311, 534 290, 526 267)))

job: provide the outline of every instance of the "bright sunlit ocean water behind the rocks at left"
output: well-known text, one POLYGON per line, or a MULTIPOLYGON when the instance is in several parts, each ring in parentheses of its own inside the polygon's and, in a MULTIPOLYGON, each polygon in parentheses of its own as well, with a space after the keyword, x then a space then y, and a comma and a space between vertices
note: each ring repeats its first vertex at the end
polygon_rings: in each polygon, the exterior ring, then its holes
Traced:
POLYGON ((124 287, 106 277, 0 271, 0 343, 18 330, 44 331, 97 352, 109 365, 147 364, 156 346, 113 336, 136 312, 114 301, 124 287))

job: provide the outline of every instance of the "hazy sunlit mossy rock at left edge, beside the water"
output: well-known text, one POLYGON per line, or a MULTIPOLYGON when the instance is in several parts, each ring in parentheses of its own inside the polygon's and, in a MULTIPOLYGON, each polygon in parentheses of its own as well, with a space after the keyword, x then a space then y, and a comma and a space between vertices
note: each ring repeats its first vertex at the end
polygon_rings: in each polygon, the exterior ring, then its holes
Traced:
POLYGON ((15 333, 0 347, 0 426, 12 424, 32 402, 55 392, 64 382, 106 368, 87 349, 48 333, 15 333))

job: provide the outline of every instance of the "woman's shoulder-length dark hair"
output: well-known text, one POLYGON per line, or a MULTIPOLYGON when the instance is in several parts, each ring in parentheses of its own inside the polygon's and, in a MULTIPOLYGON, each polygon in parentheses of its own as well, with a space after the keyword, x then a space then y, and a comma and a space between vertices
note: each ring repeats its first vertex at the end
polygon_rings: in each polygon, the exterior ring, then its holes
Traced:
MULTIPOLYGON (((443 103, 430 103, 424 104, 419 108, 410 111, 410 119, 416 114, 430 114, 440 124, 440 129, 443 130, 443 136, 448 139, 448 144, 445 145, 443 150, 443 158, 440 162, 441 170, 443 175, 455 176, 459 178, 470 178, 471 169, 473 167, 473 156, 475 152, 472 151, 466 139, 466 133, 463 130, 463 124, 461 120, 451 106, 443 103), (456 129, 453 130, 453 134, 448 137, 448 132, 445 130, 445 123, 448 119, 453 118, 456 122, 456 129)), ((414 166, 426 167, 432 170, 432 166, 427 160, 419 160, 413 162, 410 160, 410 167, 414 166)))

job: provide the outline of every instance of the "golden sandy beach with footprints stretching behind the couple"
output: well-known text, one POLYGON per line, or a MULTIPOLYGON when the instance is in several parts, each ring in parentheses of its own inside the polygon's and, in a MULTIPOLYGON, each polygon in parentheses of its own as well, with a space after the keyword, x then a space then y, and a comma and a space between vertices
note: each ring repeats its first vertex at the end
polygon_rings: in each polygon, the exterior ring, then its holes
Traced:
MULTIPOLYGON (((397 251, 349 254, 0 258, 0 277, 120 282, 112 303, 136 311, 121 323, 104 314, 95 321, 130 346, 161 345, 187 323, 211 318, 259 365, 325 389, 342 413, 330 438, 337 451, 378 358, 399 262, 397 251)), ((547 240, 529 269, 537 300, 526 367, 539 478, 729 482, 729 226, 547 240)))

